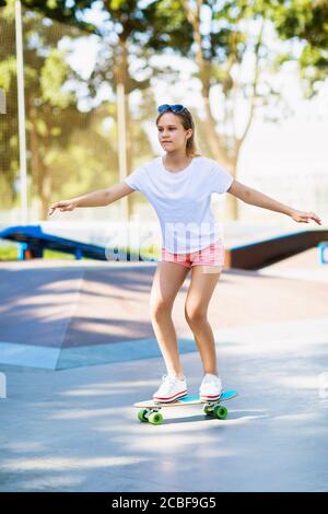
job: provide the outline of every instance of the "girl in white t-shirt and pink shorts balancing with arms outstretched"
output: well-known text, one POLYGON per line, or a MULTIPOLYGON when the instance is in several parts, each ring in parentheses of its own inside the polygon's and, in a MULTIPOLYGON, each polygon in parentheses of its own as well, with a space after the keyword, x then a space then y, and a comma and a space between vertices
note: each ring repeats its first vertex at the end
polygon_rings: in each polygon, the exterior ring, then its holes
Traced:
POLYGON ((224 264, 224 247, 210 208, 211 194, 229 191, 246 203, 282 212, 300 223, 314 220, 321 224, 321 221, 314 212, 298 211, 238 183, 215 161, 197 154, 194 121, 185 106, 161 105, 156 127, 159 141, 165 151, 163 157, 139 166, 109 189, 54 203, 49 215, 56 209, 65 212, 75 207, 108 206, 134 190, 145 195, 156 210, 163 237, 162 256, 151 289, 150 311, 167 374, 162 377, 153 399, 169 402, 187 395, 172 308, 191 268, 185 316, 204 372, 199 395, 204 401, 216 400, 222 393, 222 379, 207 312, 224 264))

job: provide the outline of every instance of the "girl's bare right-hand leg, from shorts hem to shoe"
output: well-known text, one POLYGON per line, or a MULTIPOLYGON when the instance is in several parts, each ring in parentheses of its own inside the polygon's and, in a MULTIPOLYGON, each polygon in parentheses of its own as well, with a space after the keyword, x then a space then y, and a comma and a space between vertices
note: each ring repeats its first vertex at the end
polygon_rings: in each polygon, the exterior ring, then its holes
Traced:
POLYGON ((202 360, 204 373, 218 374, 215 341, 211 325, 208 322, 208 306, 215 285, 219 281, 221 268, 206 271, 206 266, 194 266, 189 285, 185 316, 192 330, 197 347, 202 360))

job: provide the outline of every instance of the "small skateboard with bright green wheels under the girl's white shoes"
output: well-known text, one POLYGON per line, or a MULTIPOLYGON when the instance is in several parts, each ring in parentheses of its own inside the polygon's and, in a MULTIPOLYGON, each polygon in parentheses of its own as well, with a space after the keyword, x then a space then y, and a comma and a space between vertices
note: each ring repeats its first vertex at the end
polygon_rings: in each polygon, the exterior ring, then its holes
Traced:
POLYGON ((161 424, 163 423, 164 417, 161 409, 168 407, 183 407, 186 405, 199 405, 203 404, 202 411, 206 416, 216 418, 218 420, 224 420, 227 417, 227 408, 221 405, 222 401, 229 401, 238 395, 236 390, 226 390, 222 393, 220 398, 214 401, 201 400, 199 396, 185 396, 171 404, 160 404, 154 400, 144 400, 133 404, 139 410, 138 419, 143 423, 161 424))

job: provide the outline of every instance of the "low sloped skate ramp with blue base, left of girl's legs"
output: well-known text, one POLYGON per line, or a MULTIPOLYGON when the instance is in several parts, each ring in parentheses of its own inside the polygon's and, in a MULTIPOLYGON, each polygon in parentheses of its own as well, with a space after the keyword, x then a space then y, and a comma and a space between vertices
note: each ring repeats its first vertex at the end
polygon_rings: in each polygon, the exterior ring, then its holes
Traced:
POLYGON ((132 359, 130 340, 139 340, 140 355, 153 337, 142 306, 155 265, 126 265, 2 264, 1 362, 54 370, 113 362, 122 342, 132 359))

